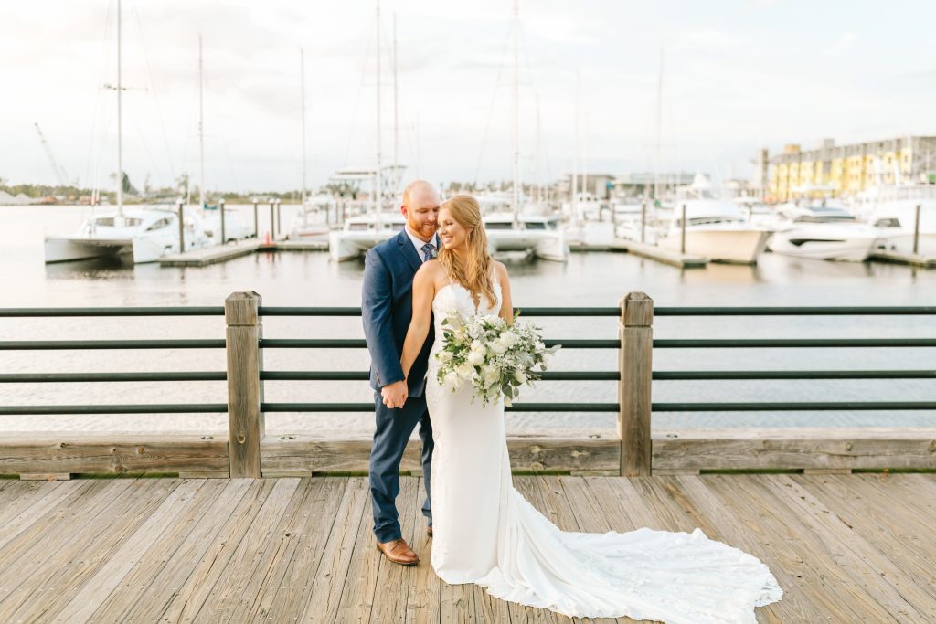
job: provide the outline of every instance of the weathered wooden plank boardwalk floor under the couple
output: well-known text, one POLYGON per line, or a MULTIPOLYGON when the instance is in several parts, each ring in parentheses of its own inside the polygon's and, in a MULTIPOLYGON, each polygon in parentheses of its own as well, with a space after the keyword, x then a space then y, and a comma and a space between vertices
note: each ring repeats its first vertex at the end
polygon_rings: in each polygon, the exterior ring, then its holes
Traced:
MULTIPOLYGON (((516 477, 563 530, 693 530, 752 553, 785 591, 759 622, 936 621, 936 474, 516 477)), ((373 546, 363 477, 0 480, 0 622, 580 620, 432 573, 416 477, 404 537, 373 546)))

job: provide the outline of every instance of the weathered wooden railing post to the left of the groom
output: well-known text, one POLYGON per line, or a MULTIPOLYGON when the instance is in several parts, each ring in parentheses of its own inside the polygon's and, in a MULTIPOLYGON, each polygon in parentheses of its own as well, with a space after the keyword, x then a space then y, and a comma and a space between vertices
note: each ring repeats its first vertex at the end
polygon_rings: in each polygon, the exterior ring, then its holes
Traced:
POLYGON ((227 423, 231 478, 260 475, 260 441, 266 434, 263 401, 261 298, 253 291, 225 299, 227 323, 227 423))

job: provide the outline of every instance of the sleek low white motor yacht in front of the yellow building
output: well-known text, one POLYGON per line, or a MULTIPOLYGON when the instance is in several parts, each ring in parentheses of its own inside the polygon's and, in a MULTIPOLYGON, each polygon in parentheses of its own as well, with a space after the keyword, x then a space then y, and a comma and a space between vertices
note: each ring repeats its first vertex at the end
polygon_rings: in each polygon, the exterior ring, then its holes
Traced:
POLYGON ((838 205, 784 204, 769 249, 802 258, 863 262, 877 234, 838 205))

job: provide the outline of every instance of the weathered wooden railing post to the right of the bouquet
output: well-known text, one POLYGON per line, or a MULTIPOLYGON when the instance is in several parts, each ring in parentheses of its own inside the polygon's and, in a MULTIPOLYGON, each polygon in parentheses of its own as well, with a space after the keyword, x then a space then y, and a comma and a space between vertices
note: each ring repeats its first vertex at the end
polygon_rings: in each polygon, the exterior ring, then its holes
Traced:
POLYGON ((621 299, 621 383, 618 385, 618 437, 621 475, 651 473, 651 375, 653 299, 628 293, 621 299))

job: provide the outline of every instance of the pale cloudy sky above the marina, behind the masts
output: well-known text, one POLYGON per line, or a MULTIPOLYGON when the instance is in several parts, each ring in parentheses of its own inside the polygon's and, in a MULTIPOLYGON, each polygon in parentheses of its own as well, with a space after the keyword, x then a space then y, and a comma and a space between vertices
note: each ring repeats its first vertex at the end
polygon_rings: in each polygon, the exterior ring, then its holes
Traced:
MULTIPOLYGON (((0 178, 55 181, 38 123, 70 180, 107 188, 116 96, 103 85, 116 80, 116 2, 0 7, 0 178)), ((310 187, 338 168, 373 163, 373 1, 123 7, 124 168, 138 186, 183 171, 197 178, 199 34, 209 189, 299 187, 300 48, 310 187)), ((385 159, 394 147, 396 14, 407 177, 509 178, 510 3, 384 0, 381 9, 385 159)), ((661 49, 665 168, 746 178, 760 146, 936 134, 933 2, 521 0, 520 22, 527 180, 537 168, 545 179, 571 170, 577 73, 589 170, 651 169, 661 49)))

